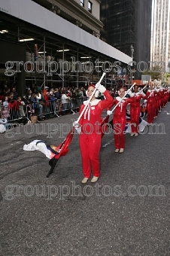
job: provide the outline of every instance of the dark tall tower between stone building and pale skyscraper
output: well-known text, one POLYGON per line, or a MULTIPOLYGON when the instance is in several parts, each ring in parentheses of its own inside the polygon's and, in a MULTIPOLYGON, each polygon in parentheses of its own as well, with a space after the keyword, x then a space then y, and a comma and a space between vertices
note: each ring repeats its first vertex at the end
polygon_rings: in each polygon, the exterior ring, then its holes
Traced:
POLYGON ((102 0, 101 38, 136 62, 136 79, 150 61, 152 0, 102 0))

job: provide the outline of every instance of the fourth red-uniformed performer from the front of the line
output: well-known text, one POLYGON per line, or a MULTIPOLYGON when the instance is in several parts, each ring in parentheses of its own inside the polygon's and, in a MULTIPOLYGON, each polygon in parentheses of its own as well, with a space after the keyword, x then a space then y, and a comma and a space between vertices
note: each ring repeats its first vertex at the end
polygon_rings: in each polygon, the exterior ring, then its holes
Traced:
POLYGON ((155 100, 156 91, 153 90, 153 82, 150 83, 150 89, 147 90, 147 123, 153 123, 153 118, 155 117, 155 100))

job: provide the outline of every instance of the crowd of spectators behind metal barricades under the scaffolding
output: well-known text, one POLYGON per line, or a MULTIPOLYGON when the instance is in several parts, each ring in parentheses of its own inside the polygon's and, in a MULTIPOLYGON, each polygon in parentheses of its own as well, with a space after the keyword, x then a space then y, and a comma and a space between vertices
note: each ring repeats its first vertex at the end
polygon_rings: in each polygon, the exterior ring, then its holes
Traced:
MULTIPOLYGON (((0 114, 8 121, 38 116, 38 120, 64 114, 74 114, 87 100, 86 87, 26 87, 26 94, 19 95, 16 86, 0 87, 0 114)), ((109 89, 108 89, 109 90, 109 89)), ((116 89, 110 89, 113 98, 116 89)), ((102 96, 100 96, 102 97, 102 96)))

